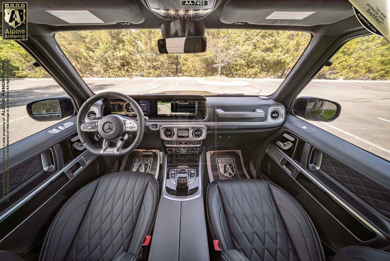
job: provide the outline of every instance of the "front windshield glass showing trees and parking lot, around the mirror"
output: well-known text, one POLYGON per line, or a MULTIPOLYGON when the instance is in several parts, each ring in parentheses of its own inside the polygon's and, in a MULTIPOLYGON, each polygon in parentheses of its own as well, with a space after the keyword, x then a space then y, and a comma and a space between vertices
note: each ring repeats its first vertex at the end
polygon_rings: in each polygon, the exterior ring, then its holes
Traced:
POLYGON ((59 32, 58 45, 94 93, 270 95, 311 35, 269 30, 206 30, 207 50, 159 54, 161 30, 59 32))

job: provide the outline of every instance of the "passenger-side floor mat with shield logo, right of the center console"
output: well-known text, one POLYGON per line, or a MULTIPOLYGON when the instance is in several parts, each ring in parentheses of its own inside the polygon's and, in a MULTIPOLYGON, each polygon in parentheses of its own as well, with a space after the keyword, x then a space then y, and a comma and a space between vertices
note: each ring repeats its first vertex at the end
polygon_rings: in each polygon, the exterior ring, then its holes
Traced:
POLYGON ((241 150, 217 150, 206 153, 210 182, 220 179, 249 179, 241 150))

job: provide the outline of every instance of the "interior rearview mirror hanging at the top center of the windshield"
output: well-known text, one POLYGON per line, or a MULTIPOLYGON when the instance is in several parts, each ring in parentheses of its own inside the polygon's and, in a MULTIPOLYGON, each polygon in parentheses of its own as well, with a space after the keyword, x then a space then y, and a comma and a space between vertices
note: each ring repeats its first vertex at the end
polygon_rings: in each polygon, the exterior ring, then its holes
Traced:
POLYGON ((160 54, 195 54, 206 52, 207 38, 204 36, 177 37, 157 40, 160 54))

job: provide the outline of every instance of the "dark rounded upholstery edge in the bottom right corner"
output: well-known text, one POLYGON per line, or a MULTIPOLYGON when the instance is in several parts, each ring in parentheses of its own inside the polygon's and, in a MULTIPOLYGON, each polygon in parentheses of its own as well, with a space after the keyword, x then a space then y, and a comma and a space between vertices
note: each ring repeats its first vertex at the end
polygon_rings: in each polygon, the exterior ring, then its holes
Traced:
POLYGON ((390 253, 378 249, 360 246, 344 247, 341 249, 333 261, 389 261, 390 253))

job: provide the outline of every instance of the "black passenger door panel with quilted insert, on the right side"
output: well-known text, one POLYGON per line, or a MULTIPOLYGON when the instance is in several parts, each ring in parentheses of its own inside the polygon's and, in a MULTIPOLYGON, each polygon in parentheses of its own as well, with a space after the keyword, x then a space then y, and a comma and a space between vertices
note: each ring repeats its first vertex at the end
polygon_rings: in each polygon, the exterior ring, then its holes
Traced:
POLYGON ((297 198, 328 245, 336 251, 347 245, 388 245, 388 161, 292 115, 286 116, 282 130, 264 148, 258 159, 258 172, 297 198), (291 149, 285 150, 276 143, 287 141, 284 133, 294 138, 291 149), (317 215, 319 207, 326 214, 317 215), (337 223, 330 226, 329 217, 337 223), (341 238, 340 231, 344 231, 341 238))

